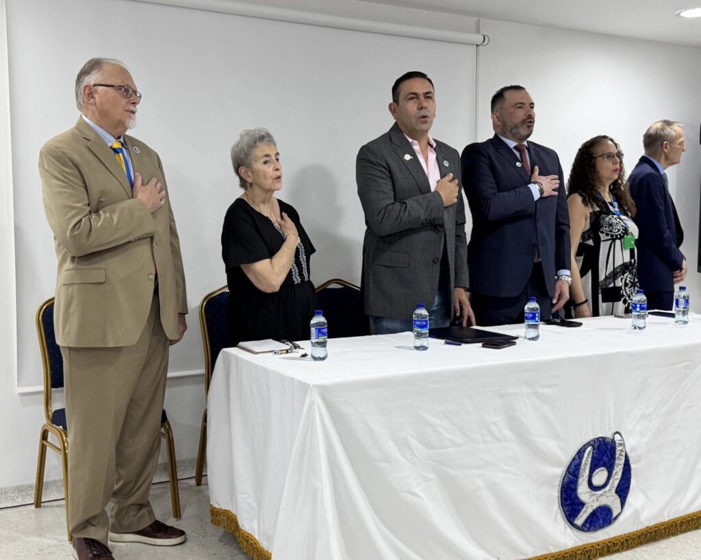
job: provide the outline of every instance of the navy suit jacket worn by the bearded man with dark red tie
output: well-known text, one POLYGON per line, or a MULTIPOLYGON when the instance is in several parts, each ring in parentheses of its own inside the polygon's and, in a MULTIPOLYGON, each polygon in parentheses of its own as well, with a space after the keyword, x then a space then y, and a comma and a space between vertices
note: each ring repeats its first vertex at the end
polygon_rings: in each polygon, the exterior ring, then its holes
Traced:
POLYGON ((557 175, 557 196, 533 200, 531 177, 498 135, 470 144, 461 156, 463 186, 472 212, 468 244, 470 292, 496 297, 523 293, 533 271, 536 245, 552 296, 557 271, 570 269, 569 214, 562 166, 550 148, 528 142, 531 169, 557 175))

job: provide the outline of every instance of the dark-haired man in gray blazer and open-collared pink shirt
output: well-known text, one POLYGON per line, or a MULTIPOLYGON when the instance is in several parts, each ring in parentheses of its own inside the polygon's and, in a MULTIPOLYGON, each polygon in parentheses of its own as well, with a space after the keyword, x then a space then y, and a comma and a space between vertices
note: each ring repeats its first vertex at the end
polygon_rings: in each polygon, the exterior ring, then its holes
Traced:
POLYGON ((396 123, 362 146, 355 179, 365 212, 362 291, 375 334, 411 330, 425 303, 431 327, 449 325, 452 311, 473 323, 468 285, 465 205, 458 152, 430 137, 433 82, 407 72, 392 88, 396 123))

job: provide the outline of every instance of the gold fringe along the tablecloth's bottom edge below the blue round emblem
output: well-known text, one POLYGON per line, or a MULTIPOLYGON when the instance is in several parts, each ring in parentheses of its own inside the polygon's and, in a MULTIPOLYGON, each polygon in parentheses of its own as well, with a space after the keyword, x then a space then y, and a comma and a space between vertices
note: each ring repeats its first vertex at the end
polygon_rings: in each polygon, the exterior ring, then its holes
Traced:
POLYGON ((650 542, 655 542, 655 540, 695 531, 698 528, 701 528, 701 512, 675 517, 674 519, 669 519, 669 521, 662 521, 662 523, 651 525, 632 533, 599 540, 599 542, 590 542, 588 545, 533 556, 529 560, 596 560, 601 558, 601 556, 623 552, 641 545, 647 545, 650 542))

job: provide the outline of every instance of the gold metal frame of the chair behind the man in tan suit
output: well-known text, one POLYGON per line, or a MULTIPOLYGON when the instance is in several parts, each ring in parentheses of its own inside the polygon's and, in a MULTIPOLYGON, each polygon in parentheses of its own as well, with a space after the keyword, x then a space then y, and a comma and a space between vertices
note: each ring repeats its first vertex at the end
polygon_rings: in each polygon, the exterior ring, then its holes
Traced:
MULTIPOLYGON (((41 496, 43 494, 43 478, 44 470, 46 469, 46 449, 53 449, 61 456, 63 467, 63 492, 66 504, 66 531, 68 541, 73 540, 68 517, 68 433, 59 426, 51 423, 53 416, 53 404, 51 400, 51 364, 48 357, 48 345, 46 343, 46 333, 43 329, 41 317, 46 312, 46 308, 52 306, 54 298, 49 298, 44 301, 39 309, 36 310, 36 335, 39 337, 39 350, 41 350, 41 367, 43 369, 43 387, 44 387, 44 418, 46 423, 41 426, 39 432, 39 457, 36 460, 36 482, 34 484, 34 507, 41 507, 41 496), (50 442, 49 434, 53 434, 58 439, 58 445, 50 442)), ((165 439, 166 454, 168 456, 168 472, 170 473, 170 500, 172 503, 172 512, 175 519, 180 519, 180 491, 177 482, 177 465, 175 463, 175 441, 173 439, 172 428, 168 418, 161 423, 161 437, 165 439)))

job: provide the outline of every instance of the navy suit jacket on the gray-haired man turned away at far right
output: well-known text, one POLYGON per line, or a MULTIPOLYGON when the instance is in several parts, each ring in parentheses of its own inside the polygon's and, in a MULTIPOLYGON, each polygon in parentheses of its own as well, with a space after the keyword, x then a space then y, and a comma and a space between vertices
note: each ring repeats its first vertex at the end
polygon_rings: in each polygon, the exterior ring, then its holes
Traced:
POLYGON ((640 287, 650 292, 674 292, 672 273, 681 270, 684 239, 679 216, 657 165, 645 156, 628 177, 637 207, 635 248, 640 287))

